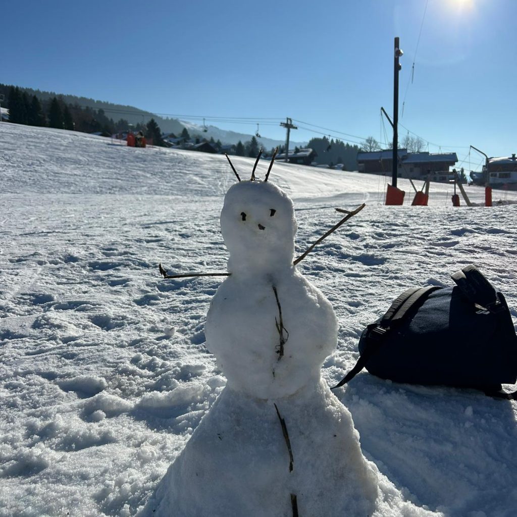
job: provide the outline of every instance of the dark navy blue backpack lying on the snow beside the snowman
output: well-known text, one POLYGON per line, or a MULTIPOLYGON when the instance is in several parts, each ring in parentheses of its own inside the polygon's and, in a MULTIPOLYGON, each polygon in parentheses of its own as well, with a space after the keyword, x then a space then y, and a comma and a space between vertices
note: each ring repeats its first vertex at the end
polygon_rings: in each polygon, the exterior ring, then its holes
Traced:
POLYGON ((452 275, 454 287, 411 288, 359 340, 360 358, 337 385, 364 367, 398 383, 501 392, 517 380, 517 336, 505 297, 473 265, 452 275))

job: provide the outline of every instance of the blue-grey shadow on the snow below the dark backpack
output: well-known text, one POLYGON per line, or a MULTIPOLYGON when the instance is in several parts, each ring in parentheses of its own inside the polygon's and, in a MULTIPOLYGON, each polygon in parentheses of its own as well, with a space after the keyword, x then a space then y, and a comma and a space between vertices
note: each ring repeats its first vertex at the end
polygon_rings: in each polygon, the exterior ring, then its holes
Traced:
POLYGON ((451 508, 445 511, 451 516, 489 515, 484 505, 494 500, 512 508, 517 426, 510 401, 476 390, 393 383, 367 372, 334 394, 352 413, 364 455, 408 499, 432 510, 451 508))

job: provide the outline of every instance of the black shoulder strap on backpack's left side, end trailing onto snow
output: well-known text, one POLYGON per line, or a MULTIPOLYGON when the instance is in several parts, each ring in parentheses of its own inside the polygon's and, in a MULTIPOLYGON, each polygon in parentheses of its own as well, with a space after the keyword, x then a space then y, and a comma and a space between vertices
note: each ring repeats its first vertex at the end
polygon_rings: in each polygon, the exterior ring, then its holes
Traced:
POLYGON ((370 357, 384 343, 387 332, 393 330, 401 325, 409 315, 410 309, 415 307, 418 302, 427 298, 433 291, 441 289, 436 285, 428 287, 410 287, 404 291, 396 300, 393 301, 391 307, 386 311, 386 314, 379 320, 378 323, 368 325, 366 333, 364 334, 364 348, 362 354, 359 356, 354 368, 350 370, 343 379, 334 387, 336 389, 352 378, 354 378, 365 366, 370 357))

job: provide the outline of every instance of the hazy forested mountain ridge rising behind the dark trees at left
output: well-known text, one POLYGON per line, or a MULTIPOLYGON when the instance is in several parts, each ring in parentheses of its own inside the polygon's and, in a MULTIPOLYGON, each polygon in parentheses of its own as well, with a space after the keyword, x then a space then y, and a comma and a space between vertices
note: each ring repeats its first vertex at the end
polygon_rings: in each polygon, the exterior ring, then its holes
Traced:
MULTIPOLYGON (((0 93, 3 93, 7 96, 8 88, 10 85, 0 84, 0 93)), ((79 104, 81 108, 92 108, 94 110, 104 110, 104 113, 109 118, 112 118, 115 122, 120 118, 124 118, 130 124, 136 125, 138 123, 146 124, 151 118, 154 118, 160 126, 160 129, 164 133, 175 133, 179 136, 183 128, 187 128, 191 136, 195 134, 200 134, 205 138, 210 139, 213 137, 214 140, 220 140, 223 144, 237 144, 239 140, 242 143, 245 143, 251 140, 253 134, 247 133, 237 133, 235 131, 227 131, 224 129, 220 129, 216 126, 207 126, 207 131, 203 131, 203 126, 193 124, 188 121, 178 120, 177 118, 169 118, 169 117, 161 117, 160 115, 156 115, 155 113, 151 113, 149 111, 141 110, 139 108, 135 108, 134 106, 123 105, 123 104, 115 104, 113 102, 108 101, 99 101, 95 99, 91 99, 88 97, 79 97, 76 95, 65 95, 58 94, 55 92, 46 92, 39 89, 33 88, 25 88, 20 86, 22 92, 26 92, 27 95, 33 96, 36 95, 40 100, 50 100, 54 97, 60 97, 67 104, 79 104)), ((269 138, 259 138, 257 139, 258 143, 264 147, 264 149, 270 149, 271 147, 276 147, 277 145, 284 145, 284 140, 275 140, 269 138)), ((307 142, 290 142, 290 148, 294 148, 295 146, 304 147, 307 145, 307 142)))

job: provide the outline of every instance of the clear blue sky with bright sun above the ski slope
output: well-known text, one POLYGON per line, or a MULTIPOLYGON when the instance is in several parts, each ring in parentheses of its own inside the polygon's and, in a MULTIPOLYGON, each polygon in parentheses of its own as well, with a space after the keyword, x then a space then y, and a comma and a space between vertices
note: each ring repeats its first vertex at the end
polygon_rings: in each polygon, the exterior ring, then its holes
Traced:
MULTIPOLYGON (((502 156, 517 151, 516 19, 516 0, 11 2, 0 81, 242 132, 260 122, 270 138, 284 138, 278 124, 288 116, 300 128, 381 141, 399 36, 401 124, 431 152, 462 160, 473 144, 502 156)), ((311 136, 298 129, 292 138, 311 136)))

